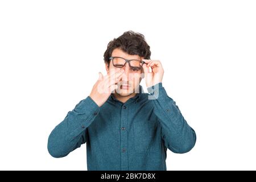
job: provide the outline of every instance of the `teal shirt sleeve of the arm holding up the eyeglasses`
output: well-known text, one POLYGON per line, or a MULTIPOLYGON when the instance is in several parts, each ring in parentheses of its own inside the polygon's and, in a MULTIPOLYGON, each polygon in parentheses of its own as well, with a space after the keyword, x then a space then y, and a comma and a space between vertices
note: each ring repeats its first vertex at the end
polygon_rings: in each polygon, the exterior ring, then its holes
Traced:
POLYGON ((154 113, 161 126, 164 145, 175 153, 190 151, 196 143, 196 133, 185 121, 179 107, 166 93, 162 82, 147 88, 148 99, 154 102, 154 113))

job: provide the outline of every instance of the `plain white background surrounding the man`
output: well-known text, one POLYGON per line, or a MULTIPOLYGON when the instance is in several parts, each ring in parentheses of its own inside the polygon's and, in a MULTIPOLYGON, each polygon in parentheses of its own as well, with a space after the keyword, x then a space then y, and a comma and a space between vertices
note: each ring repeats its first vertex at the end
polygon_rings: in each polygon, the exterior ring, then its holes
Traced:
MULTIPOLYGON (((256 169, 255 1, 0 1, 0 169, 86 170, 48 135, 86 98, 103 53, 141 32, 197 143, 168 170, 256 169)), ((145 89, 144 80, 142 85, 145 89)))

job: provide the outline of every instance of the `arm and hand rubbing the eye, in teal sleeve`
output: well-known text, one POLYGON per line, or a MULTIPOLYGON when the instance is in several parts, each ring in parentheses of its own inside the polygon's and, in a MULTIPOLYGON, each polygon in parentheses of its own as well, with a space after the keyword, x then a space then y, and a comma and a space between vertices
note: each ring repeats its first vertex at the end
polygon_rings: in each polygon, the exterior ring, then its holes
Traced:
POLYGON ((116 69, 99 78, 90 96, 69 111, 64 120, 53 129, 48 138, 48 151, 55 158, 61 158, 86 142, 86 128, 94 121, 110 94, 117 88, 123 70, 116 69), (111 75, 110 75, 111 73, 111 75))

